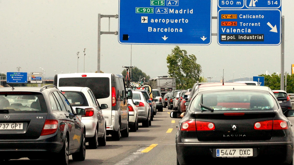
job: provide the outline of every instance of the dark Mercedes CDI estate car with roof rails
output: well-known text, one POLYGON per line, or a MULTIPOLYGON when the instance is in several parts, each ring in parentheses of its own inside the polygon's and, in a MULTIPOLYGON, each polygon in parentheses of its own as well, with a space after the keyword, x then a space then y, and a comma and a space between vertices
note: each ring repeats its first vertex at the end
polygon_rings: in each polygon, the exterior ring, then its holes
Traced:
POLYGON ((83 161, 85 126, 68 100, 53 85, 0 88, 0 162, 9 159, 57 159, 67 165, 69 155, 83 161))

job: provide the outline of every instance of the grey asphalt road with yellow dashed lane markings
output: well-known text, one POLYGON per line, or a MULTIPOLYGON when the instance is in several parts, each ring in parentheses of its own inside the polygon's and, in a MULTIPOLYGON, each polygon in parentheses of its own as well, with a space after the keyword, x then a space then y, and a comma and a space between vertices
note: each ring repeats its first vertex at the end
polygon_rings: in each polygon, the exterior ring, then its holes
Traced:
MULTIPOLYGON (((84 161, 69 160, 70 165, 150 165, 150 164, 176 164, 175 134, 176 125, 180 119, 170 118, 167 108, 163 112, 157 112, 151 126, 143 128, 139 124, 137 132, 130 132, 129 137, 120 141, 112 141, 111 135, 107 136, 105 147, 89 149, 86 146, 86 159, 84 161), (172 129, 172 130, 171 130, 172 129), (167 133, 169 132, 169 133, 167 133), (155 146, 155 147, 154 147, 155 146)), ((5 164, 41 164, 47 165, 52 161, 18 160, 4 161, 5 164)))

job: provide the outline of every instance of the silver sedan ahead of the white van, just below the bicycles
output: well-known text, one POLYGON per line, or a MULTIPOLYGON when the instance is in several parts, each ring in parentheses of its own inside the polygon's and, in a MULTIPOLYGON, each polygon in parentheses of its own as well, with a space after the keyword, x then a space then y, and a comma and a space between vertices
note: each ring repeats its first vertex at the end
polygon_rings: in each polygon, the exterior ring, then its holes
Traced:
POLYGON ((138 122, 142 123, 143 127, 149 127, 149 123, 151 125, 151 107, 142 92, 133 90, 133 101, 139 102, 139 105, 136 105, 138 108, 138 122))

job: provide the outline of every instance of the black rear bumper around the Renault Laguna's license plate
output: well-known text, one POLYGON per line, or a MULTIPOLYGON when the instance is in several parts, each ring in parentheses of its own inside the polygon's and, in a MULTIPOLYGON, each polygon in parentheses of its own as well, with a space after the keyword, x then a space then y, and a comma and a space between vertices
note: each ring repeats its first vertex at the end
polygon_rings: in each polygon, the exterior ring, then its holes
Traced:
MULTIPOLYGON (((180 164, 195 162, 197 157, 218 159, 234 159, 216 157, 216 149, 253 148, 253 156, 240 158, 245 160, 274 157, 279 163, 290 163, 293 159, 293 142, 245 142, 245 143, 177 143, 176 150, 180 164)), ((272 160, 272 159, 270 159, 272 160)))

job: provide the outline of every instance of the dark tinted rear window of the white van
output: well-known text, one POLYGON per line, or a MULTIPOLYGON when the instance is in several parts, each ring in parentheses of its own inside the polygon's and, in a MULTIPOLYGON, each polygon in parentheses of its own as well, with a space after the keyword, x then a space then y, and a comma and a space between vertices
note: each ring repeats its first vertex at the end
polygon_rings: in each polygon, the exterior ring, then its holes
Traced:
POLYGON ((88 87, 96 99, 107 98, 110 95, 109 78, 107 77, 60 78, 58 86, 88 87))

